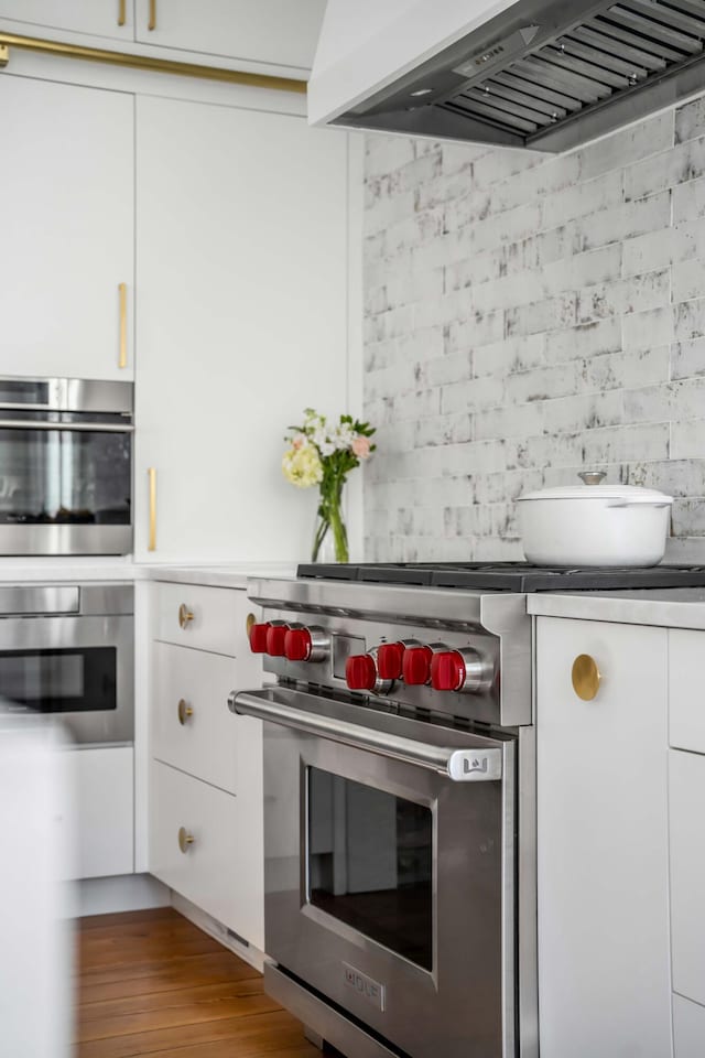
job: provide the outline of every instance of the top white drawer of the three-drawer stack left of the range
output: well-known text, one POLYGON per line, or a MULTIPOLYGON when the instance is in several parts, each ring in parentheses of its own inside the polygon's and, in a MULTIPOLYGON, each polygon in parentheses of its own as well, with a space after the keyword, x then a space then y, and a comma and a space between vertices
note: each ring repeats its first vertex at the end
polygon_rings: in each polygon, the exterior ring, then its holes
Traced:
POLYGON ((249 654, 246 622, 252 607, 245 591, 159 584, 156 597, 158 639, 231 658, 249 654))

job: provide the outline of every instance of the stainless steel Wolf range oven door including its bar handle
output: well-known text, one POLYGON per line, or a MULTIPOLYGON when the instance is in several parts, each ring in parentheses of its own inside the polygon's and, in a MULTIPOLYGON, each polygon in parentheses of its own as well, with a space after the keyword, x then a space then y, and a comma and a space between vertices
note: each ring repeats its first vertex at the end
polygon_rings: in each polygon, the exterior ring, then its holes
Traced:
POLYGON ((264 724, 265 948, 413 1058, 514 1055, 514 742, 283 687, 264 724))

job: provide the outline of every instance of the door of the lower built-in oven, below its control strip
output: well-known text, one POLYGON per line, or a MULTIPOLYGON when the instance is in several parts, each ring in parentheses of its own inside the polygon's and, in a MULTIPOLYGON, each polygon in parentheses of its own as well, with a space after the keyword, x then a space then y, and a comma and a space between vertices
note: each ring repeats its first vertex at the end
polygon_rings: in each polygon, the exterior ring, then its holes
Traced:
POLYGON ((132 615, 3 617, 0 699, 11 712, 53 714, 77 743, 131 743, 132 615))

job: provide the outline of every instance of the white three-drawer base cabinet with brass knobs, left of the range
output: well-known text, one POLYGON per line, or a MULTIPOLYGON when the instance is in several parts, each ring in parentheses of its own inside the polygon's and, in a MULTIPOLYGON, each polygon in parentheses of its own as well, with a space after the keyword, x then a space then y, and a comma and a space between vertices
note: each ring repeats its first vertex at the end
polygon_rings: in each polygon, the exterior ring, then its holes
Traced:
POLYGON ((256 607, 242 590, 153 590, 150 871, 261 950, 262 725, 228 709, 232 690, 261 683, 247 638, 256 607), (185 628, 182 604, 194 615, 185 628))

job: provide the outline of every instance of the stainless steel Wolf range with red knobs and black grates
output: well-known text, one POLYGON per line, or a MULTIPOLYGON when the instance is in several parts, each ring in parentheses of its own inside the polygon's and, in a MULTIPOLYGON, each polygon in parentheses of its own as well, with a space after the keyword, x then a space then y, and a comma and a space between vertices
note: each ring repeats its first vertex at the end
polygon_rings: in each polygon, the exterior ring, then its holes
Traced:
POLYGON ((267 991, 349 1058, 538 1055, 525 593, 705 570, 302 566, 251 581, 267 991))

